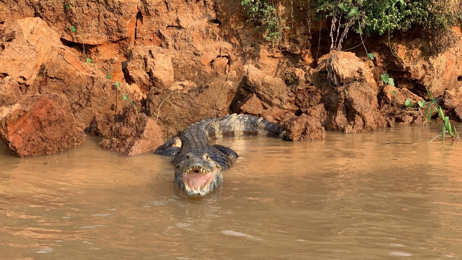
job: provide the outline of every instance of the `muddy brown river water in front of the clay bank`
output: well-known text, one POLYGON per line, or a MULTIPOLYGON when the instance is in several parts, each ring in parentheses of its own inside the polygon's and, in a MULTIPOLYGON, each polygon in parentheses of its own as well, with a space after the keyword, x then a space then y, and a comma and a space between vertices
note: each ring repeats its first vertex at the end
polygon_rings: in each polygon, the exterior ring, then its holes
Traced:
POLYGON ((439 129, 217 140, 241 157, 200 199, 170 157, 2 145, 0 259, 461 259, 462 147, 439 129))

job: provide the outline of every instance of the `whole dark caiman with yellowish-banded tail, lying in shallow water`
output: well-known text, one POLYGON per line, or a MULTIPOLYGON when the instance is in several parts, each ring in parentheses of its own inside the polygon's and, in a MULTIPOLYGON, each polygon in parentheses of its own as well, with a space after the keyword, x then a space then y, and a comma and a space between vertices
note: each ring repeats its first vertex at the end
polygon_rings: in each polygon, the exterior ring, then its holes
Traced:
POLYGON ((173 183, 190 197, 204 197, 222 185, 222 169, 228 168, 237 153, 222 145, 210 145, 212 139, 258 135, 290 140, 286 131, 274 122, 253 115, 225 115, 194 123, 180 137, 174 137, 156 149, 157 154, 176 155, 172 163, 173 183))

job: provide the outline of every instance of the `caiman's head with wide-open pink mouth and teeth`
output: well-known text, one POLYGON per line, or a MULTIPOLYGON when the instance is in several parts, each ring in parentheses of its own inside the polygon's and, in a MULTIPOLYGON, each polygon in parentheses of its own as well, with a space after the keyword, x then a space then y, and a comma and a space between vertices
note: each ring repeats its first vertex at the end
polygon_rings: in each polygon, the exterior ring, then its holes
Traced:
POLYGON ((221 166, 207 153, 187 153, 175 164, 174 183, 190 197, 204 197, 223 183, 221 166))

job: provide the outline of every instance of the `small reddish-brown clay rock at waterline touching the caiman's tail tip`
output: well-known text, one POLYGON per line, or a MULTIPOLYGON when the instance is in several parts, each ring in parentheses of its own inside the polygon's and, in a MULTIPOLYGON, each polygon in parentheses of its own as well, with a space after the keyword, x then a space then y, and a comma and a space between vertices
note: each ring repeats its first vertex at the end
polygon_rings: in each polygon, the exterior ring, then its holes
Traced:
POLYGON ((325 139, 326 130, 318 118, 302 114, 280 122, 292 140, 325 139))

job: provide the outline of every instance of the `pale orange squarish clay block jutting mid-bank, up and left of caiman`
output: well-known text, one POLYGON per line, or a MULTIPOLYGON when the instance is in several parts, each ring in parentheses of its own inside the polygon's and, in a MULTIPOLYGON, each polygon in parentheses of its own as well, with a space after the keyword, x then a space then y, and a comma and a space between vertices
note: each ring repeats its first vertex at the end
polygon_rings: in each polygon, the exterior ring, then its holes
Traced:
POLYGON ((123 64, 123 71, 129 82, 136 83, 146 91, 149 91, 152 84, 164 88, 174 81, 170 53, 155 46, 134 47, 129 59, 123 64))

